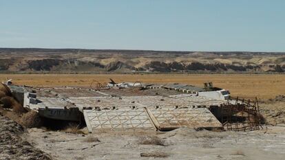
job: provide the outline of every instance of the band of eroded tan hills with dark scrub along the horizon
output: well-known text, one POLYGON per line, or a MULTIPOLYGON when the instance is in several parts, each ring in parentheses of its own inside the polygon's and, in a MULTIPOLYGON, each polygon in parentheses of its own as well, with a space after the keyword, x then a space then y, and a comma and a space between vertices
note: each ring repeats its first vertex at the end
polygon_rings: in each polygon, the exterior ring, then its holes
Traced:
POLYGON ((285 52, 0 48, 1 73, 283 73, 285 52))

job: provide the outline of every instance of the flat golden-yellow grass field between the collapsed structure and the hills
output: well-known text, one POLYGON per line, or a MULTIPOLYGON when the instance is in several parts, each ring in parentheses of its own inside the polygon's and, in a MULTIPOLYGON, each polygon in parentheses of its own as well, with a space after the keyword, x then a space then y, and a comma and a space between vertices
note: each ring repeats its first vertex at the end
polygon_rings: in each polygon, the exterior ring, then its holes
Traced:
POLYGON ((0 80, 12 79, 14 84, 29 86, 89 86, 93 80, 109 82, 178 82, 200 87, 213 82, 215 87, 229 89, 241 98, 268 99, 285 95, 285 75, 269 74, 0 74, 0 80))

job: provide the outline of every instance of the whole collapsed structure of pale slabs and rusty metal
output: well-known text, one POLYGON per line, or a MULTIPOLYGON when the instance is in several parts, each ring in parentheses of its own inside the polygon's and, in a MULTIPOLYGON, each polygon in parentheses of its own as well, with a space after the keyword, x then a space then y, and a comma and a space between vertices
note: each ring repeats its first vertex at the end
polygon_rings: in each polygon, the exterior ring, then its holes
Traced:
MULTIPOLYGON (((106 129, 166 131, 180 127, 259 129, 257 102, 229 100, 229 91, 213 87, 211 82, 204 83, 201 88, 178 83, 116 83, 110 80, 103 84, 94 80, 89 88, 33 88, 7 82, 6 89, 27 111, 35 111, 44 119, 86 124, 89 133, 106 129)), ((37 116, 25 113, 24 122, 20 122, 28 127, 37 126, 40 122, 37 116)))

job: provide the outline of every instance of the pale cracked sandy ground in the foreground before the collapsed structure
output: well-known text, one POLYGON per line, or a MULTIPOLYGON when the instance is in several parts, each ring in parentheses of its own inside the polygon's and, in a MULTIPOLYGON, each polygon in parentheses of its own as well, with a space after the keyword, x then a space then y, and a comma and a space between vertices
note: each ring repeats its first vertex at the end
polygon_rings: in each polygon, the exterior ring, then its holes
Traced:
MULTIPOLYGON (((251 132, 195 131, 168 133, 97 133, 74 135, 31 128, 25 139, 55 159, 284 159, 285 126, 251 132), (163 145, 140 144, 145 135, 163 145), (98 141, 89 140, 97 137, 98 141), (166 157, 140 157, 142 153, 166 157)), ((153 155, 153 156, 154 156, 153 155)))

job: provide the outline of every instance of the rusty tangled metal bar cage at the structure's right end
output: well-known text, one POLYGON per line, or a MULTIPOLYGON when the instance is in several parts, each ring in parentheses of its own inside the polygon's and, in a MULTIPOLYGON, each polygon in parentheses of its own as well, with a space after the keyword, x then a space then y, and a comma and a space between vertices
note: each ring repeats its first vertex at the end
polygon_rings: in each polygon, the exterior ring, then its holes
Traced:
POLYGON ((259 130, 260 111, 257 98, 255 101, 235 99, 235 103, 222 105, 222 124, 226 130, 259 130))

